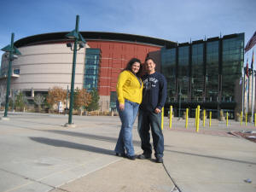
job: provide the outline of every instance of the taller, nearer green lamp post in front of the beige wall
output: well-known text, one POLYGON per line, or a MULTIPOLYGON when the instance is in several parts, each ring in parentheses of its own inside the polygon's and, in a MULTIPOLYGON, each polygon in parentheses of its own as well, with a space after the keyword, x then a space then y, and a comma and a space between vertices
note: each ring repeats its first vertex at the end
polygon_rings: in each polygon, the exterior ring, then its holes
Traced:
POLYGON ((76 28, 72 32, 66 35, 67 38, 73 39, 74 43, 67 43, 67 47, 73 50, 73 66, 72 66, 72 78, 71 78, 71 90, 70 90, 70 103, 69 103, 69 113, 68 113, 68 123, 65 126, 74 126, 72 123, 73 115, 73 90, 74 90, 74 80, 75 80, 75 70, 76 70, 76 60, 77 60, 77 50, 84 47, 86 43, 83 36, 79 33, 79 15, 76 18, 76 28), (79 49, 78 49, 79 44, 79 49))

